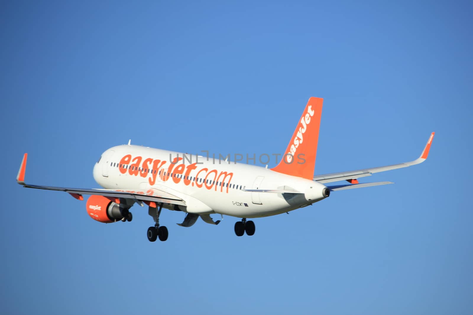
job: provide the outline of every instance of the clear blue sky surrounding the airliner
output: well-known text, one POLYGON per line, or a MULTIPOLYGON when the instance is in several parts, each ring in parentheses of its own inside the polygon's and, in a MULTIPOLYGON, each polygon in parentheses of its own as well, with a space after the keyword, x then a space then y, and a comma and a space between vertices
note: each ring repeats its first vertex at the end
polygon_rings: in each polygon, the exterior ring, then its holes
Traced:
MULTIPOLYGON (((467 1, 0 4, 0 311, 469 314, 472 22, 467 1), (91 220, 16 184, 96 187, 105 149, 282 153, 324 98, 315 173, 417 158, 237 238, 236 218, 91 220), (7 193, 8 192, 8 193, 7 193)), ((273 165, 270 165, 270 167, 273 165)))

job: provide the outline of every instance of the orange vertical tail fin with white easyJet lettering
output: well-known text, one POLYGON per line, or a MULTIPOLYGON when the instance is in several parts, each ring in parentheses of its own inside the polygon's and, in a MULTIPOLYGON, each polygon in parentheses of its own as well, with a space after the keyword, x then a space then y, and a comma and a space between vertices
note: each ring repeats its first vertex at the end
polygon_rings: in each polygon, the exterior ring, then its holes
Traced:
POLYGON ((314 178, 323 102, 324 99, 318 97, 309 99, 281 162, 271 170, 305 179, 314 178))

